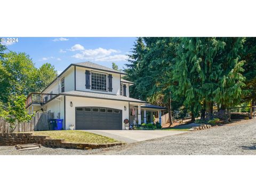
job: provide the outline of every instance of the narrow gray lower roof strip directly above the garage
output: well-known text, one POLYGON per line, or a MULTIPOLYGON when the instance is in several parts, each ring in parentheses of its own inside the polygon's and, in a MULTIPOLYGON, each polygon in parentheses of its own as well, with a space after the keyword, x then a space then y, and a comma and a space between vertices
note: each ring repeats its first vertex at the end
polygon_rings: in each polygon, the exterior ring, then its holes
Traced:
POLYGON ((129 97, 125 97, 122 95, 92 93, 92 92, 83 92, 83 91, 67 91, 67 92, 60 93, 60 95, 70 95, 70 96, 74 96, 74 97, 77 96, 77 97, 86 97, 86 98, 97 98, 97 99, 109 99, 109 100, 117 100, 117 101, 147 103, 146 101, 129 98, 129 97))

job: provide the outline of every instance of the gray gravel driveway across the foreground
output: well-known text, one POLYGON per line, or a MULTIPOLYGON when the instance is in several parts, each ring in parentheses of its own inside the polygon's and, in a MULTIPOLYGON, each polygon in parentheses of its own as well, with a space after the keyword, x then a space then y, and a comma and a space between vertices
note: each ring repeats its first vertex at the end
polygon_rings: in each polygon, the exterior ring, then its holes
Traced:
POLYGON ((0 155, 256 155, 256 119, 207 130, 131 143, 107 149, 76 150, 42 147, 18 151, 0 147, 0 155))

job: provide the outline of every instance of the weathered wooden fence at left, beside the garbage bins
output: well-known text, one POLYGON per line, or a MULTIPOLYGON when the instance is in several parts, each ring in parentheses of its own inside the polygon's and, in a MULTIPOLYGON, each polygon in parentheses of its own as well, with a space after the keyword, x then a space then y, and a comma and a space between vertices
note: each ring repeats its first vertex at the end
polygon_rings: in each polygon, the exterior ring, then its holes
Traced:
POLYGON ((14 129, 11 129, 10 123, 0 118, 0 133, 46 131, 49 130, 48 119, 51 118, 54 118, 54 113, 36 113, 30 122, 18 123, 14 129))

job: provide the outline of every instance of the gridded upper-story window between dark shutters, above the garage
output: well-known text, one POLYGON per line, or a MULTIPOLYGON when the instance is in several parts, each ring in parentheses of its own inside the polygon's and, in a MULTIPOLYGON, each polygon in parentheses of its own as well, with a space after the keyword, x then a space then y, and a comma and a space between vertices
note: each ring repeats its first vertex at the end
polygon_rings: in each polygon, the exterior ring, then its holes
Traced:
POLYGON ((92 72, 92 90, 107 91, 107 74, 92 72))

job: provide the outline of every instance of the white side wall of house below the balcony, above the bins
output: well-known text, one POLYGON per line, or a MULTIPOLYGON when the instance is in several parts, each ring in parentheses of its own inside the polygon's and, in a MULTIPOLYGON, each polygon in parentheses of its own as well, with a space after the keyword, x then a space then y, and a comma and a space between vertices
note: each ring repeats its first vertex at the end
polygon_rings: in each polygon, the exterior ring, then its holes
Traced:
POLYGON ((49 103, 46 103, 43 109, 54 112, 54 118, 57 118, 58 113, 60 113, 60 118, 64 119, 64 97, 53 99, 49 103))

